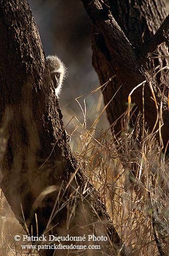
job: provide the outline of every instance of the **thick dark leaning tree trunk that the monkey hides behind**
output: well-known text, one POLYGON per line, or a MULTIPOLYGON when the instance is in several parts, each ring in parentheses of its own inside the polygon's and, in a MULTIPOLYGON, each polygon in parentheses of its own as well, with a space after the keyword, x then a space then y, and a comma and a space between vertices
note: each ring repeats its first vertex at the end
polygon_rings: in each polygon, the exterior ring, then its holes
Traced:
MULTIPOLYGON (((0 1, 0 34, 1 187, 13 212, 29 235, 46 230, 46 236, 108 236, 100 251, 84 254, 101 255, 110 249, 111 255, 117 255, 121 240, 107 224, 99 196, 77 167, 66 140, 27 1, 0 1)), ((54 255, 54 250, 40 254, 54 255)))

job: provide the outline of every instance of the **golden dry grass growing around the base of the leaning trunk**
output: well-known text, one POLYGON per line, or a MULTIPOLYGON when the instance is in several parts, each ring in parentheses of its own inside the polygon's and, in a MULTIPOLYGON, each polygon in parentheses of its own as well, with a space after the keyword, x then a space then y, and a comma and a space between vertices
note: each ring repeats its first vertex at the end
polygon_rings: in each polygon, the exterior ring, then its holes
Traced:
MULTIPOLYGON (((83 97, 83 106, 76 99, 82 116, 74 115, 65 121, 74 156, 98 190, 125 244, 126 255, 159 255, 157 242, 159 249, 168 255, 168 161, 155 139, 160 129, 155 126, 150 134, 141 114, 131 128, 134 106, 129 104, 120 138, 110 128, 102 130, 99 127, 104 122, 101 118, 105 109, 100 96, 92 107, 94 114, 87 109, 86 101, 93 93, 83 97)), ((66 116, 66 110, 63 112, 66 116)), ((22 228, 2 192, 1 195, 0 255, 24 255, 20 243, 14 243, 13 239, 15 234, 23 232, 22 228)))

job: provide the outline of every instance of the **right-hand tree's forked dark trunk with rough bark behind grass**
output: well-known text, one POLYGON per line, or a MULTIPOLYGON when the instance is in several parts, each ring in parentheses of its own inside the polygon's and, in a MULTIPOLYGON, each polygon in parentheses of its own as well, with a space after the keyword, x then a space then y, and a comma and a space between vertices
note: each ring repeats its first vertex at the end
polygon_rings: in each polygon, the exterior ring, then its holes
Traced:
MULTIPOLYGON (((166 17, 164 1, 82 0, 82 3, 93 23, 93 65, 100 82, 104 84, 114 74, 117 76, 109 82, 103 91, 105 104, 111 100, 122 83, 122 87, 106 109, 110 124, 126 111, 126 102, 128 102, 128 96, 132 90, 146 80, 145 119, 152 130, 157 119, 156 105, 150 88, 152 85, 158 112, 161 99, 163 103, 164 125, 161 128, 161 134, 165 149, 169 139, 168 103, 166 95, 162 95, 163 86, 159 85, 161 74, 154 77, 152 71, 153 65, 155 67, 159 64, 160 67, 166 65, 164 59, 163 61, 161 59, 153 61, 152 59, 152 53, 155 50, 161 55, 167 55, 164 47, 158 48, 162 42, 168 45, 169 18, 167 17, 162 23, 166 17), (155 35, 153 36, 153 34, 155 35)), ((141 112, 143 112, 142 98, 142 87, 139 87, 132 94, 132 102, 141 112)), ((156 128, 158 127, 156 126, 156 128)), ((121 130, 120 120, 113 129, 115 133, 121 130)), ((158 134, 157 139, 161 144, 158 134)))

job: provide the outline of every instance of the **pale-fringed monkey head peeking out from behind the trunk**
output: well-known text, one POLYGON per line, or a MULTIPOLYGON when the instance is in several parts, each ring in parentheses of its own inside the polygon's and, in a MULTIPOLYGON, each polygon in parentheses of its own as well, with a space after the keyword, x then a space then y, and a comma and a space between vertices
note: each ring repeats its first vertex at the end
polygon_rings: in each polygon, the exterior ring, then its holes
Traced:
POLYGON ((47 57, 47 62, 54 83, 55 94, 58 97, 61 93, 63 80, 67 76, 67 68, 56 55, 49 55, 47 57))

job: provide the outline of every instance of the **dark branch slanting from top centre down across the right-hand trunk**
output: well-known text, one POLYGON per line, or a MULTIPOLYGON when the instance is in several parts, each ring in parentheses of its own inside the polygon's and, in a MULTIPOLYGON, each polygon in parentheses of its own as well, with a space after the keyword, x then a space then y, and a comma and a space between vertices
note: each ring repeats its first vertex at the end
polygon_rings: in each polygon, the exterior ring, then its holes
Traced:
MULTIPOLYGON (((98 46, 98 49, 99 45, 102 45, 102 49, 100 49, 100 52, 101 55, 104 54, 104 58, 107 61, 108 67, 110 69, 110 73, 115 73, 123 84, 122 93, 125 95, 126 101, 128 95, 135 87, 138 86, 138 84, 140 84, 144 80, 147 81, 144 91, 144 114, 145 119, 151 130, 153 130, 156 123, 157 113, 155 102, 152 99, 152 90, 149 87, 149 82, 151 82, 153 86, 154 95, 157 101, 157 105, 159 107, 158 110, 160 109, 160 103, 162 100, 162 118, 164 125, 161 128, 161 134, 163 139, 163 145, 165 148, 169 138, 167 132, 167 127, 169 125, 167 98, 162 95, 162 92, 158 88, 157 81, 152 76, 152 72, 149 69, 149 59, 145 58, 144 56, 142 56, 142 54, 140 54, 140 48, 134 48, 132 46, 132 44, 126 38, 121 28, 113 18, 110 7, 108 6, 108 4, 105 4, 105 1, 103 2, 101 0, 82 0, 82 3, 85 6, 94 25, 97 26, 96 35, 100 34, 99 37, 97 36, 100 42, 95 42, 98 46)), ((106 1, 106 3, 108 3, 108 1, 106 1)), ((142 112, 142 87, 139 87, 137 90, 134 91, 134 93, 132 94, 132 101, 136 103, 138 109, 142 112)), ((158 134, 157 139, 161 143, 158 134)))

